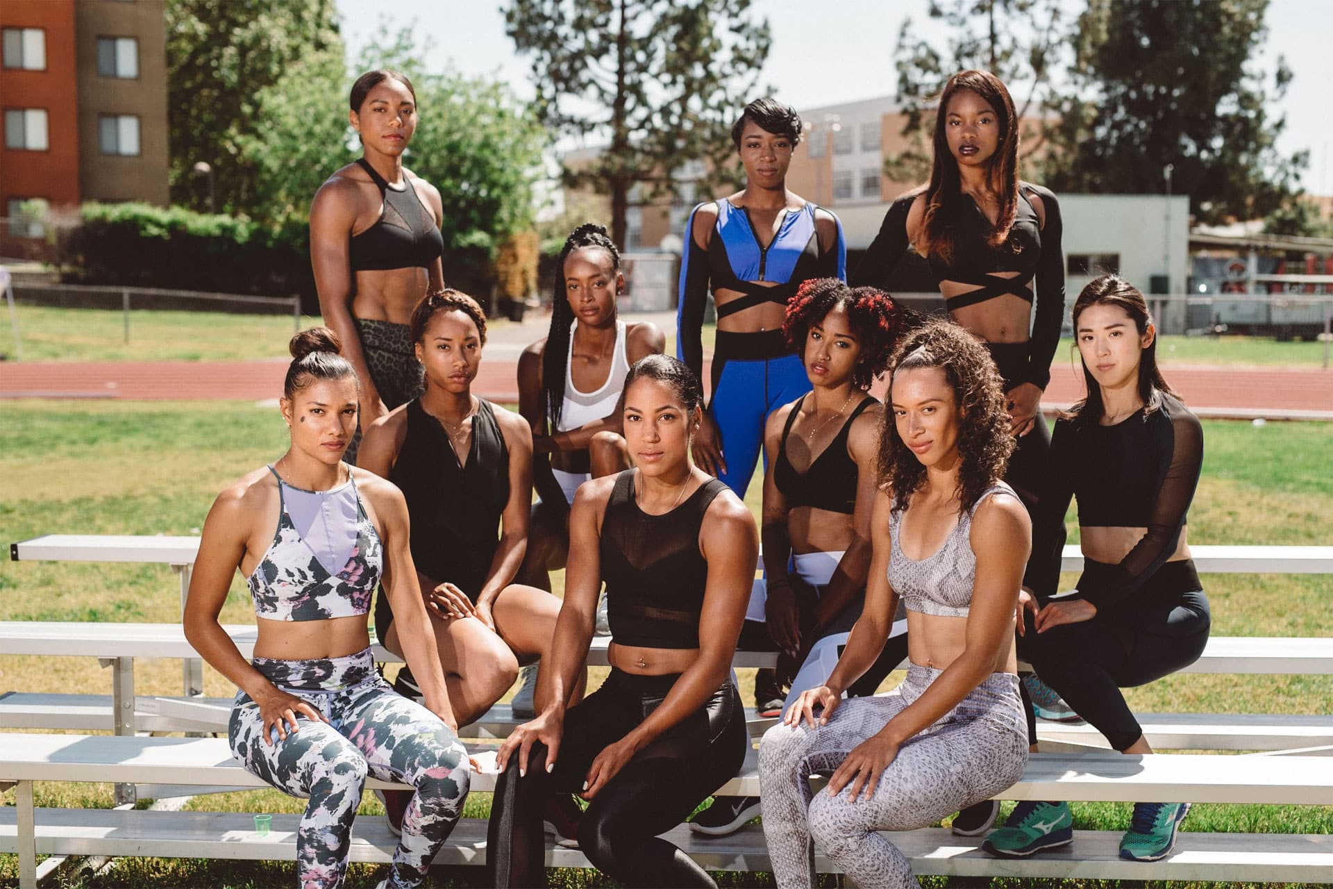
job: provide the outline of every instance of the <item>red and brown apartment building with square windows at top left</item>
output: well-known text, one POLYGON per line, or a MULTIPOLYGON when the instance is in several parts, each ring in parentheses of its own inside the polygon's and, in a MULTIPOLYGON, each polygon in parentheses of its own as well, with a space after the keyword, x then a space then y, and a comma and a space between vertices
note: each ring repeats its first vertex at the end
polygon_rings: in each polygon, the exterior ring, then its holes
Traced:
POLYGON ((0 253, 41 252, 41 209, 165 204, 163 0, 5 0, 0 33, 0 253))

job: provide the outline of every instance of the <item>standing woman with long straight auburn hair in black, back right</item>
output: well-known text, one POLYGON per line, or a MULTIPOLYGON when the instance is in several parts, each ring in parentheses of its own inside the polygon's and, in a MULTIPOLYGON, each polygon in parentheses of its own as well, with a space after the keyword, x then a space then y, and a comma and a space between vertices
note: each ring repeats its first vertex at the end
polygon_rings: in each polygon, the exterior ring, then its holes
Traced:
POLYGON ((1056 196, 1018 180, 1009 91, 964 71, 940 97, 930 183, 893 201, 850 279, 882 288, 909 248, 926 257, 949 317, 985 341, 1004 377, 1018 436, 1005 481, 1029 512, 1050 446, 1038 405, 1065 311, 1061 233, 1056 196))

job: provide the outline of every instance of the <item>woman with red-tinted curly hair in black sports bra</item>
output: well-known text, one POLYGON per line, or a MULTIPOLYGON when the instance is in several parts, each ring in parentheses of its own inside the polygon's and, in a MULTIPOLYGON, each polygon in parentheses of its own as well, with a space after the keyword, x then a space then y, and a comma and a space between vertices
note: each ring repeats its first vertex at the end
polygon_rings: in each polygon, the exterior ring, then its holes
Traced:
MULTIPOLYGON (((786 307, 782 332, 801 356, 812 391, 769 415, 764 431, 765 596, 756 590, 742 648, 784 653, 789 705, 822 685, 838 646, 861 614, 870 569, 870 512, 878 484, 882 405, 866 392, 888 367, 908 327, 906 312, 874 288, 837 279, 804 283, 786 307), (765 626, 766 622, 766 626, 765 626), (800 669, 796 669, 796 668, 800 669)), ((876 664, 848 693, 874 694, 906 657, 898 622, 876 664)), ((773 702, 777 716, 781 708, 773 702)), ((690 829, 728 834, 758 814, 758 797, 717 797, 690 829)))

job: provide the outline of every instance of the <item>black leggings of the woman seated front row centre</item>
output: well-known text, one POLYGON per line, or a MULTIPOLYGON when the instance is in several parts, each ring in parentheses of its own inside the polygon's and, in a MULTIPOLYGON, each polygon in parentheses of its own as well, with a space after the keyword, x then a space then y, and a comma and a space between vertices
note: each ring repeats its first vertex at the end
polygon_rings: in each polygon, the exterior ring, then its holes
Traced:
MULTIPOLYGON (((544 802, 555 793, 579 793, 603 748, 643 722, 677 677, 612 669, 600 689, 565 713, 552 773, 545 745, 532 746, 523 777, 515 753, 496 782, 487 828, 492 885, 547 885, 544 802)), ((628 886, 716 889, 708 872, 657 834, 681 824, 734 777, 748 748, 745 710, 728 678, 702 708, 640 750, 603 786, 579 821, 579 846, 599 870, 628 886)))

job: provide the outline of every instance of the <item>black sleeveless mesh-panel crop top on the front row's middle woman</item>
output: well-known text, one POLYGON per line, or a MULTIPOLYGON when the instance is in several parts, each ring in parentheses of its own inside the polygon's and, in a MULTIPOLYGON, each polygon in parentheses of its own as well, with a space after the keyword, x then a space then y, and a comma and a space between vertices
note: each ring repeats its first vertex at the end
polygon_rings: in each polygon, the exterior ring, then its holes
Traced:
POLYGON ((601 578, 607 620, 619 645, 698 648, 708 562, 698 529, 726 485, 709 478, 661 516, 639 508, 635 470, 616 476, 601 520, 601 578))

